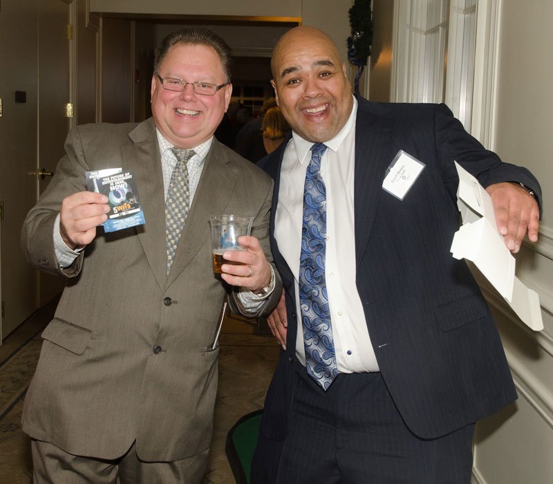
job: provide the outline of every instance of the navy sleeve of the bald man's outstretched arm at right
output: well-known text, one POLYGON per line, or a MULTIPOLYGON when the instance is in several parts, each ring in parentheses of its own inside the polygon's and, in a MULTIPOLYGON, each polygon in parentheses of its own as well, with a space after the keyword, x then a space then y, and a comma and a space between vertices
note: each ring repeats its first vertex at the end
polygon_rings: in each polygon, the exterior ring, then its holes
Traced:
POLYGON ((523 183, 536 194, 541 214, 541 187, 532 173, 524 167, 502 162, 496 153, 485 149, 465 131, 445 104, 438 105, 435 110, 435 143, 442 178, 453 200, 456 200, 459 181, 455 165, 451 162, 455 160, 478 178, 482 187, 500 182, 523 183))

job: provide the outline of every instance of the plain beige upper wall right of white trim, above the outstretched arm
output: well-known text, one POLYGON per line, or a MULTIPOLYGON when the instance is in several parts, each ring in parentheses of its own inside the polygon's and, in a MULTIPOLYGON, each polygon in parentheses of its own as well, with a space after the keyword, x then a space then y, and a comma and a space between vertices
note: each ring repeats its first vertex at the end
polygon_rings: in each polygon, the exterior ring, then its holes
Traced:
MULTIPOLYGON (((503 1, 495 145, 501 156, 531 169, 547 192, 553 185, 553 2, 521 7, 503 1)), ((547 193, 543 217, 552 229, 553 197, 547 193)))

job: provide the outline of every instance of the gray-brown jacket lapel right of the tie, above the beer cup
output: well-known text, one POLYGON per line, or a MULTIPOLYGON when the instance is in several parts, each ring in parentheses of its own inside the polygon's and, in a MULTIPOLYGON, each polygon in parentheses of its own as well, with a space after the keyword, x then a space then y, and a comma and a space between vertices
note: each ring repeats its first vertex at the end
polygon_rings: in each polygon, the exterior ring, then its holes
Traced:
MULTIPOLYGON (((223 213, 229 197, 234 192, 236 176, 237 172, 232 169, 229 158, 225 156, 221 145, 214 139, 205 159, 202 176, 190 207, 185 228, 178 241, 167 286, 173 283, 206 241, 211 243, 209 216, 223 213)), ((210 270, 207 265, 206 270, 210 270)))

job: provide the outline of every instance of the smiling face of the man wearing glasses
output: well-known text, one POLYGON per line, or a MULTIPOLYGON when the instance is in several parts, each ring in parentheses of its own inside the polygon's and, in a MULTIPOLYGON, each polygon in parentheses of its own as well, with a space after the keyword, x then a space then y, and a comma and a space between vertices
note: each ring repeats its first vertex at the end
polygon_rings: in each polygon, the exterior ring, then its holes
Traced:
MULTIPOLYGON (((201 44, 175 44, 158 68, 161 77, 175 77, 185 82, 227 82, 216 50, 201 44)), ((156 127, 165 139, 178 148, 191 149, 209 140, 229 106, 232 86, 215 95, 194 92, 191 84, 178 93, 163 89, 156 75, 151 80, 151 111, 156 127)))

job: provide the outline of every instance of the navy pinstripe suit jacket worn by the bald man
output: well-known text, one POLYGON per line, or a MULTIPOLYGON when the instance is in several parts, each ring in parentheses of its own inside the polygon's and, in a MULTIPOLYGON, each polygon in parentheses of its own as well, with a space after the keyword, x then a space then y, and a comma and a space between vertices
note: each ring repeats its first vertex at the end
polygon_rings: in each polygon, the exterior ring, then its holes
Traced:
MULTIPOLYGON (((465 261, 449 248, 458 230, 453 160, 486 187, 527 169, 501 162, 469 136, 446 106, 358 99, 355 133, 357 290, 379 368, 406 425, 421 438, 448 434, 516 399, 498 331, 465 261), (403 149, 426 165, 403 201, 384 192, 386 168, 403 149)), ((275 181, 271 232, 286 143, 259 165, 275 181)), ((285 286, 287 350, 281 351, 261 434, 283 440, 294 391, 294 279, 271 239, 285 286)))

